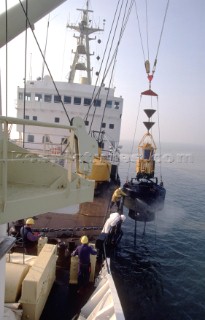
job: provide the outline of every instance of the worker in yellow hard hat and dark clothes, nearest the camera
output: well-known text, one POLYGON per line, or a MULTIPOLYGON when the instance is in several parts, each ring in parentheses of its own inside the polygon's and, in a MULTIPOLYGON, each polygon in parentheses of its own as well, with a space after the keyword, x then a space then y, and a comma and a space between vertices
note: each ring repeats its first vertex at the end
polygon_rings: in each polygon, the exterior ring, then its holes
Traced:
POLYGON ((90 255, 96 255, 95 251, 91 246, 88 245, 88 237, 82 236, 80 239, 81 245, 79 245, 72 253, 72 256, 78 255, 78 287, 81 289, 89 283, 90 278, 90 255))

